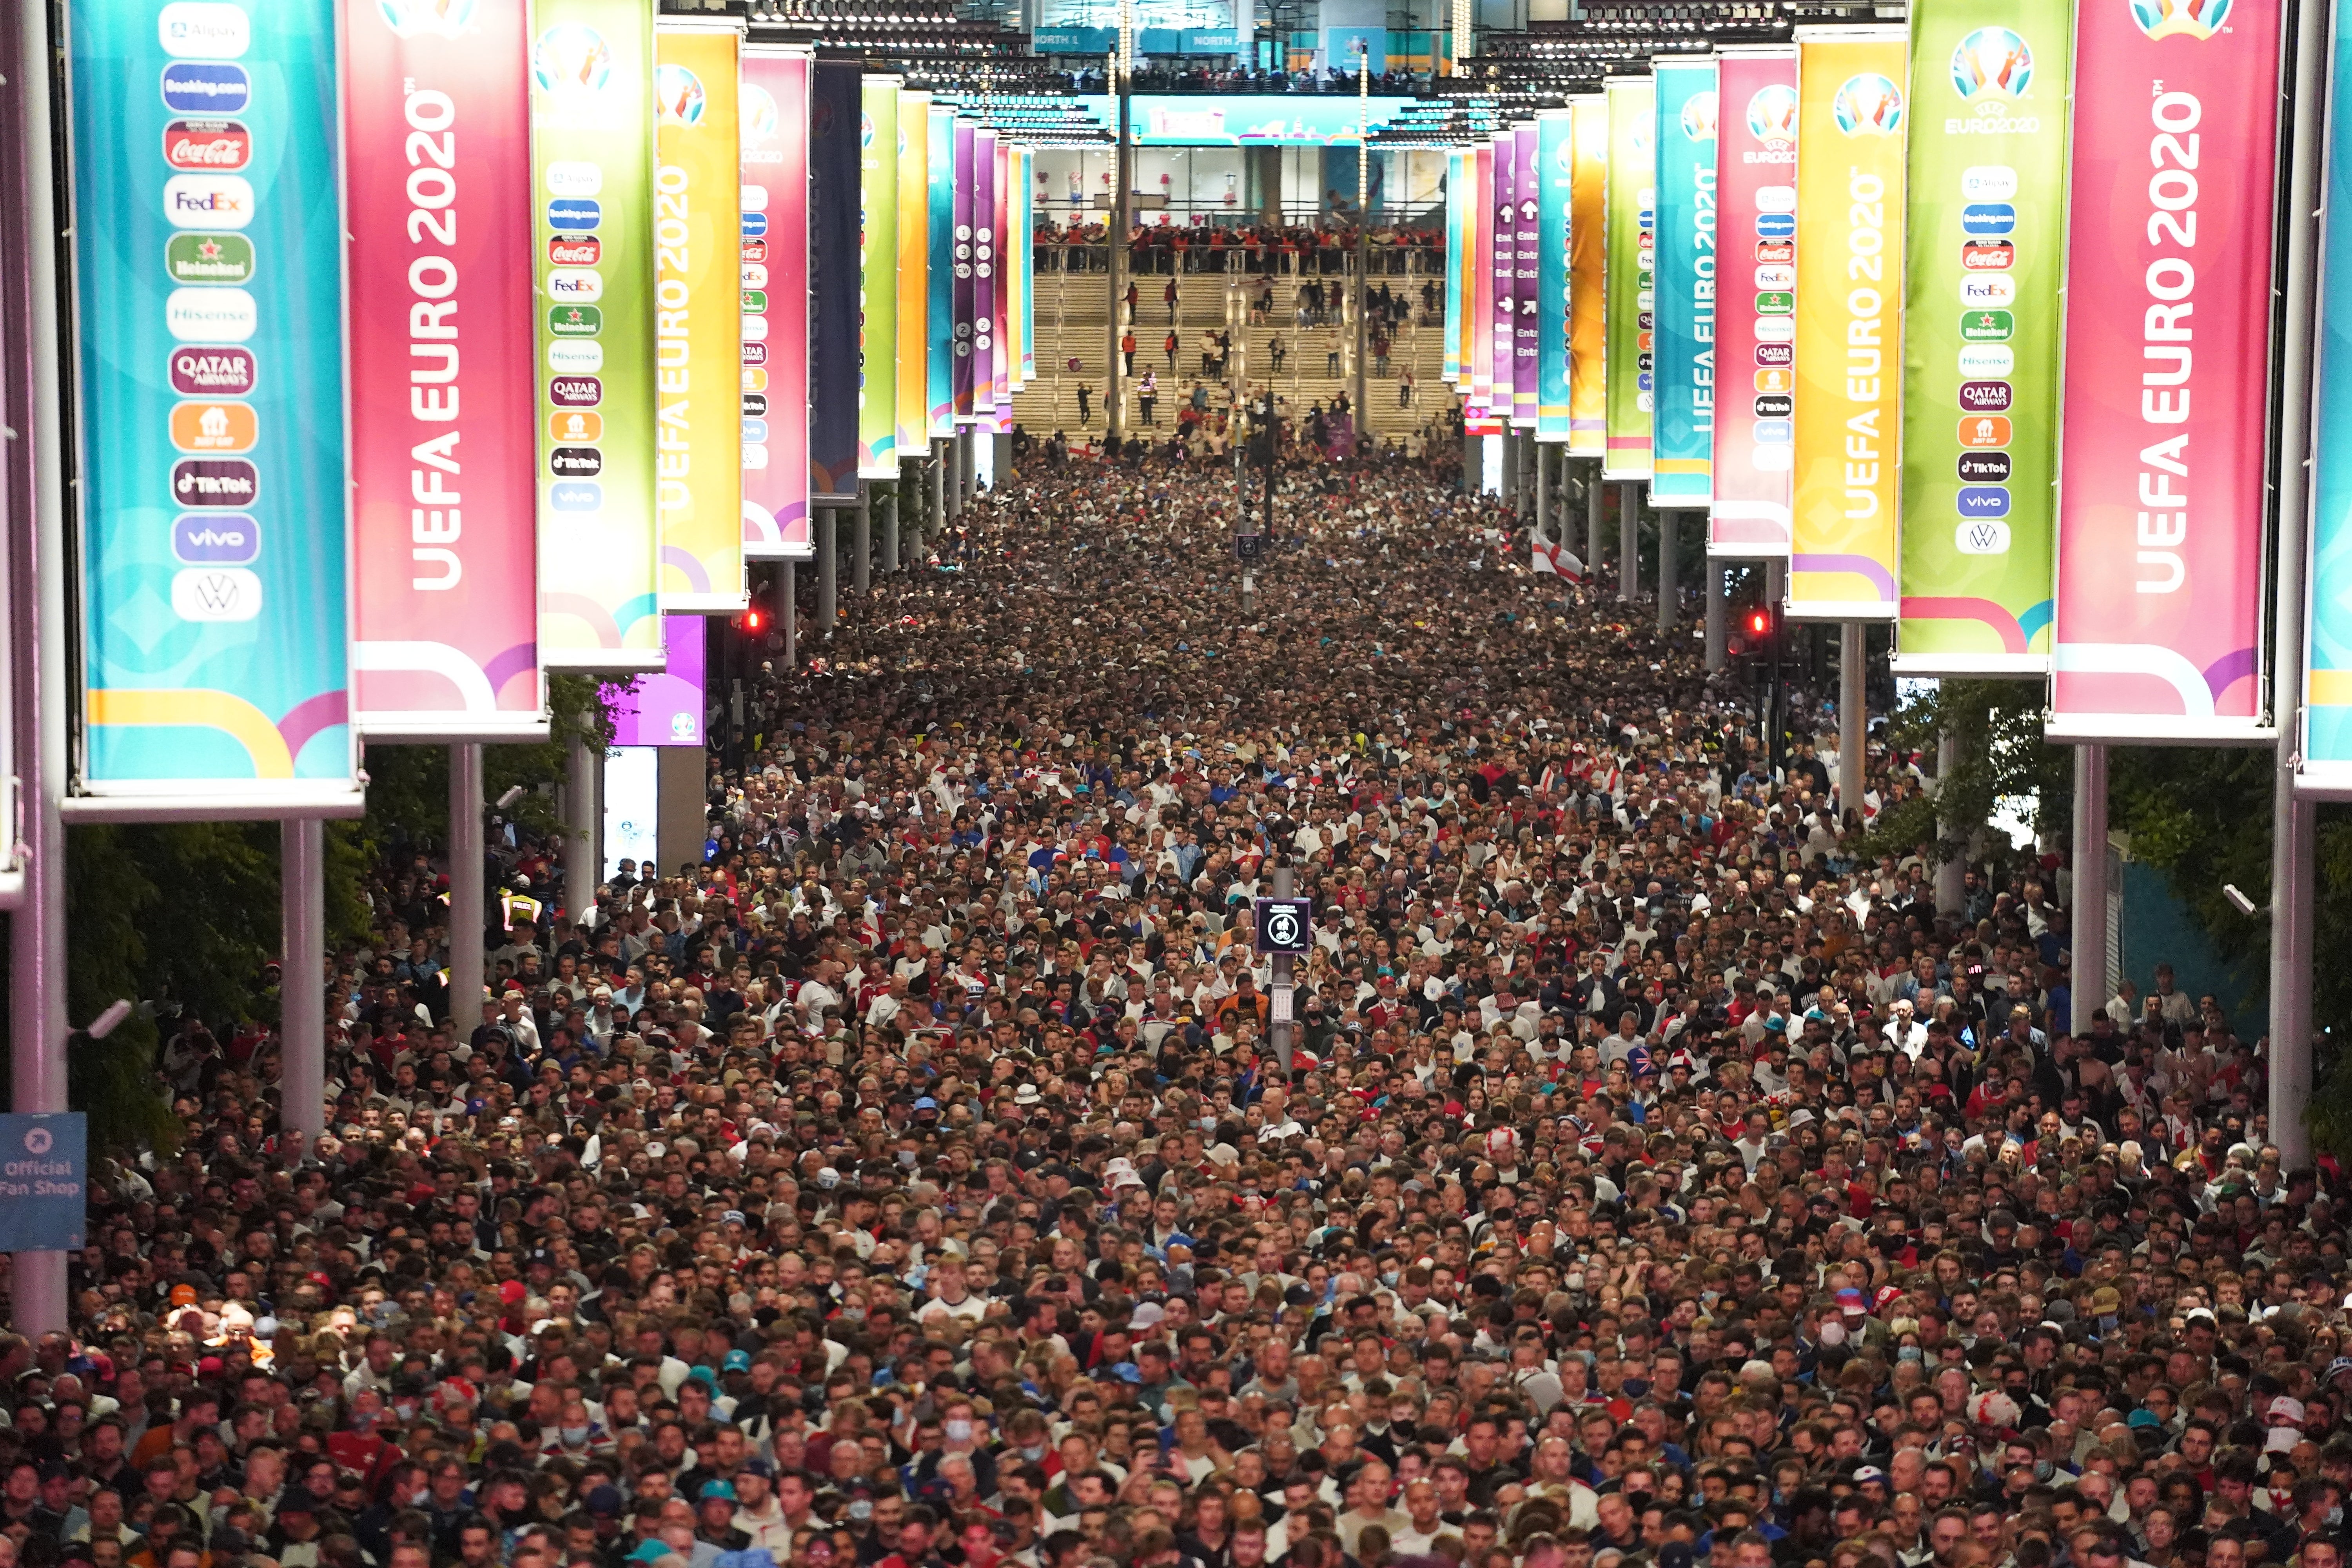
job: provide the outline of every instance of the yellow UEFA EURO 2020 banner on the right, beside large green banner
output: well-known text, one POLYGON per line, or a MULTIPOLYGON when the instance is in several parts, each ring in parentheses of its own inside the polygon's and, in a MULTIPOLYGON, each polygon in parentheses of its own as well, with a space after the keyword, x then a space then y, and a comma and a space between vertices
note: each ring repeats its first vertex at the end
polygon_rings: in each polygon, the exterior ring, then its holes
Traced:
POLYGON ((1797 362, 1717 367, 1797 400, 1797 621, 1896 618, 1907 80, 1903 28, 1797 28, 1797 362))

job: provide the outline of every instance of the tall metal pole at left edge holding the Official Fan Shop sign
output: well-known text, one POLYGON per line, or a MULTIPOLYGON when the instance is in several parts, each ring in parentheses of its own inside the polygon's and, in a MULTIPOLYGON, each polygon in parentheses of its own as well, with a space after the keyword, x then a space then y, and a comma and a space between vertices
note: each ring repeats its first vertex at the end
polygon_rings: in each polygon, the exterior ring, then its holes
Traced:
MULTIPOLYGON (((56 195, 49 148, 47 5, 16 5, 0 45, 14 118, 0 134, 0 183, 16 223, 0 223, 14 299, 0 320, 26 331, 7 343, 9 423, 7 534, 16 677, 16 769, 24 788, 24 903, 9 914, 9 1072, 19 1112, 66 1110, 66 449, 56 306, 56 195), (24 289, 16 294, 16 289, 24 289), (33 592, 26 592, 31 588, 33 592)), ((66 1333, 66 1253, 16 1253, 9 1328, 66 1333)))

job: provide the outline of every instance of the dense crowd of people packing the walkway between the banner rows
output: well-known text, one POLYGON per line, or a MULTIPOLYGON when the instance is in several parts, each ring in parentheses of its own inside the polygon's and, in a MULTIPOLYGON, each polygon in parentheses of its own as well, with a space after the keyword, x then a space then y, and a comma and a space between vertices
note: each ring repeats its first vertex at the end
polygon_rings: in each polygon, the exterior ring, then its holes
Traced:
POLYGON ((1291 468, 1244 595, 1225 484, 1025 465, 480 1027, 482 867, 381 875, 315 1147, 179 1025, 0 1568, 2340 1568, 2260 1053, 1458 470, 1291 468))

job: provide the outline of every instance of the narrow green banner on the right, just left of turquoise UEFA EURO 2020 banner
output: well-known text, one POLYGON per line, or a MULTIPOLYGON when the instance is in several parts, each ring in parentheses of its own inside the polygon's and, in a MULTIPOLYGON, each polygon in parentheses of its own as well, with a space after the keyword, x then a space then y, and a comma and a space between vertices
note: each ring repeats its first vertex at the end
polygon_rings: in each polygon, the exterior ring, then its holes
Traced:
POLYGON ((1658 266, 1658 87, 1611 78, 1609 94, 1609 456, 1604 480, 1646 480, 1656 407, 1651 341, 1658 266))

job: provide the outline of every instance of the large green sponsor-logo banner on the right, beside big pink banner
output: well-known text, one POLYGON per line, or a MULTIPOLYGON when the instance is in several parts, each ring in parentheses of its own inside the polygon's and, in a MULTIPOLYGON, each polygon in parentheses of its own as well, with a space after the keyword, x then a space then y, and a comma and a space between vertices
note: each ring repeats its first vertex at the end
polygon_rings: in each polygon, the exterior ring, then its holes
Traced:
POLYGON ((2051 646, 2067 0, 1917 0, 1903 313, 1903 675, 2051 646))

